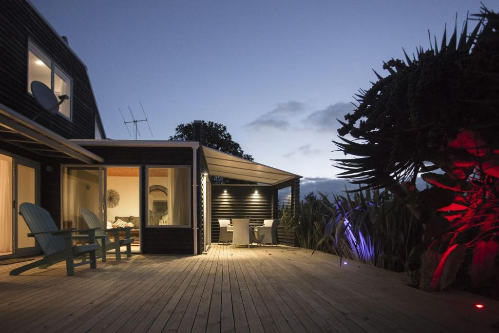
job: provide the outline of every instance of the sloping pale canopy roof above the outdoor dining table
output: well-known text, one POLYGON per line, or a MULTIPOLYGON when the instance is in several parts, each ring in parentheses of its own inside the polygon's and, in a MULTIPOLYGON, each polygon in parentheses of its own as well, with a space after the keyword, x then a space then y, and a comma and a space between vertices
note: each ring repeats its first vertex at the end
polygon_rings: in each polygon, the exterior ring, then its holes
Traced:
POLYGON ((293 178, 301 178, 301 176, 294 173, 252 162, 206 146, 203 146, 203 153, 208 163, 210 176, 269 185, 282 183, 293 178))

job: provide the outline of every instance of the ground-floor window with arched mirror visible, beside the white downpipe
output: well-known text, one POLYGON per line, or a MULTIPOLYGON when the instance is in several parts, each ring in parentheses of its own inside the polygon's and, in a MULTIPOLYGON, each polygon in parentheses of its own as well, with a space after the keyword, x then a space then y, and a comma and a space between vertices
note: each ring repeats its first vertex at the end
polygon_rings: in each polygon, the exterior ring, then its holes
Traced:
POLYGON ((191 207, 190 168, 148 168, 148 227, 188 227, 191 207))

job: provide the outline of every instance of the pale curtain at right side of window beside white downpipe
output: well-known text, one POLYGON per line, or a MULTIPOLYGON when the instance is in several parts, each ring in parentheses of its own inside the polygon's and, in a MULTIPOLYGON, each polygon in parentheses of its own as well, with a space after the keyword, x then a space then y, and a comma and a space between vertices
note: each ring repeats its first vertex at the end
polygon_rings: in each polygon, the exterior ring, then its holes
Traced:
POLYGON ((189 225, 189 168, 171 168, 168 209, 172 225, 189 225))

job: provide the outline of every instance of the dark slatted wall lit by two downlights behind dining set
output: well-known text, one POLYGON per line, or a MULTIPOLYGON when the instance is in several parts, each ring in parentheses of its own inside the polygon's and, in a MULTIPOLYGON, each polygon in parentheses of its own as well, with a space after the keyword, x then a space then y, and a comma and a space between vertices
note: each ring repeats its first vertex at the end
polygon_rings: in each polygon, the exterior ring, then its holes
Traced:
POLYGON ((219 219, 250 218, 251 223, 270 219, 272 198, 272 188, 268 186, 212 184, 212 243, 219 239, 219 219), (255 190, 258 194, 254 194, 255 190))

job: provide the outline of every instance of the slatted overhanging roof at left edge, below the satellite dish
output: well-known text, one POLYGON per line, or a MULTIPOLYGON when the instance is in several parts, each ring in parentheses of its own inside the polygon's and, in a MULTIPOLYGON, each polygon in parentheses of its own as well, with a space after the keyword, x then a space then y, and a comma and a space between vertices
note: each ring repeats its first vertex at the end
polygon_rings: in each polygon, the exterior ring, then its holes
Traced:
POLYGON ((104 162, 94 153, 0 104, 0 139, 32 153, 70 158, 85 163, 104 162))

